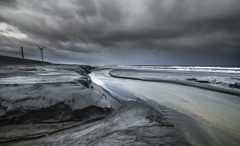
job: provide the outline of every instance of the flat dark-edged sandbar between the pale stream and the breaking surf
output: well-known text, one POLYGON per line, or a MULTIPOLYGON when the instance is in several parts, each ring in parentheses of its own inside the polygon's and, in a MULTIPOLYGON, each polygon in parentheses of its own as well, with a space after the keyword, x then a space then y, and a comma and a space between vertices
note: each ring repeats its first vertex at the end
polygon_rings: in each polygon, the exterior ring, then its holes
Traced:
POLYGON ((175 83, 240 96, 239 74, 135 69, 113 69, 109 74, 116 78, 175 83))

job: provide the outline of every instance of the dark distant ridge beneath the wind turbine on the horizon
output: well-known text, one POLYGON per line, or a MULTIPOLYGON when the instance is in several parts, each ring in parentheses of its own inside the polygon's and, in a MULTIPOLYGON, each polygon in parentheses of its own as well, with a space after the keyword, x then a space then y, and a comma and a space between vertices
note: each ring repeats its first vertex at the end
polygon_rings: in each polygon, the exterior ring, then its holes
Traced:
POLYGON ((50 64, 49 62, 42 62, 37 60, 22 59, 16 57, 2 56, 0 55, 0 66, 5 65, 44 65, 50 64))

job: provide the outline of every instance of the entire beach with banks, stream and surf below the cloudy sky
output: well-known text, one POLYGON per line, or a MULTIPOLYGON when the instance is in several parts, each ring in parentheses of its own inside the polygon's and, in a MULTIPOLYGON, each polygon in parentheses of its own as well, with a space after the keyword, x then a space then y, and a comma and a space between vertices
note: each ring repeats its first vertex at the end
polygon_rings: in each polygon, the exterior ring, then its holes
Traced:
POLYGON ((240 143, 237 67, 13 60, 0 67, 0 145, 240 143))

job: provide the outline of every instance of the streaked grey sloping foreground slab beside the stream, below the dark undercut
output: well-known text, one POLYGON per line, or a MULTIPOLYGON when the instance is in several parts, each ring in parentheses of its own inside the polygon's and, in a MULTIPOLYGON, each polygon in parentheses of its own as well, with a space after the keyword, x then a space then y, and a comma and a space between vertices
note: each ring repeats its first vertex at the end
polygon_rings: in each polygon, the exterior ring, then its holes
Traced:
MULTIPOLYGON (((53 134, 19 139, 7 145, 180 145, 189 143, 171 124, 149 119, 161 116, 138 102, 122 103, 119 111, 95 122, 85 123, 53 134)), ((29 127, 30 128, 30 127, 29 127)), ((50 128, 49 128, 50 129, 50 128)), ((29 129, 29 131, 34 130, 29 129)))

